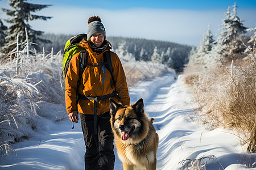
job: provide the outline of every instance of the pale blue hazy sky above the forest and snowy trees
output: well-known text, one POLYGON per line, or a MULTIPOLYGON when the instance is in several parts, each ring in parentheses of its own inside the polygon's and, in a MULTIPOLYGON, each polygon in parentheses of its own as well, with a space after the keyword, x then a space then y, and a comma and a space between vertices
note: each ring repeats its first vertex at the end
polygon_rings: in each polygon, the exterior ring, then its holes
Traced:
MULTIPOLYGON (((224 12, 235 1, 229 0, 158 0, 158 1, 79 1, 79 0, 28 0, 30 3, 52 5, 36 12, 37 15, 53 16, 47 22, 30 22, 33 29, 51 33, 86 33, 87 20, 98 15, 106 28, 106 36, 139 37, 145 39, 199 45, 210 24, 217 37, 224 12)), ((243 25, 254 28, 256 24, 256 0, 238 0, 237 15, 243 25)), ((7 0, 0 6, 10 8, 7 0)), ((0 12, 0 18, 7 16, 0 12)), ((6 24, 6 23, 5 23, 6 24)), ((6 24, 7 25, 7 24, 6 24)))

